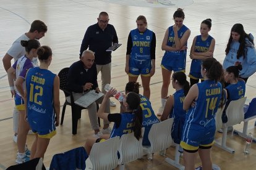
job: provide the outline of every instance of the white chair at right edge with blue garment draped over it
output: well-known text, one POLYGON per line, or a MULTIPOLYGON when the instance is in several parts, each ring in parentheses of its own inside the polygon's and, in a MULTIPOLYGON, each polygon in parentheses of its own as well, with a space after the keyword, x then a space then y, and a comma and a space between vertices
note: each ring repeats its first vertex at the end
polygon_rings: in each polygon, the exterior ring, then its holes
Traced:
MULTIPOLYGON (((252 99, 249 105, 244 105, 244 127, 241 131, 234 130, 234 134, 238 134, 241 137, 247 137, 248 123, 251 119, 256 118, 256 98, 252 99)), ((252 141, 256 142, 253 138, 252 141)))

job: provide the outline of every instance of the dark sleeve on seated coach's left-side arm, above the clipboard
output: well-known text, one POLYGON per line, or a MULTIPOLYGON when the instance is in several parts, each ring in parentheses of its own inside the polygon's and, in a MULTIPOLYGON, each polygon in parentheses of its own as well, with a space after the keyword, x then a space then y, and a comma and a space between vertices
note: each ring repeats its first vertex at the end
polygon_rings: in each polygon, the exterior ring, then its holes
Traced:
POLYGON ((77 79, 75 77, 76 75, 79 75, 79 73, 77 73, 76 68, 71 65, 69 68, 69 73, 67 74, 67 88, 72 92, 83 92, 83 87, 75 84, 77 79))

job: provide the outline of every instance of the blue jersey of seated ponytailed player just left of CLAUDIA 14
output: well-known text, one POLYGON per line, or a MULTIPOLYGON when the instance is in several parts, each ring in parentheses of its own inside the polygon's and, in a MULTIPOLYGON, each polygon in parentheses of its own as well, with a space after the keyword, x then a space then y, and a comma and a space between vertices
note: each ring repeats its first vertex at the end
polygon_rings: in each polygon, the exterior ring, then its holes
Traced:
POLYGON ((186 111, 183 110, 183 102, 185 99, 184 89, 180 89, 173 94, 174 106, 170 113, 170 118, 174 118, 171 137, 174 143, 179 144, 182 137, 182 129, 186 119, 186 111))

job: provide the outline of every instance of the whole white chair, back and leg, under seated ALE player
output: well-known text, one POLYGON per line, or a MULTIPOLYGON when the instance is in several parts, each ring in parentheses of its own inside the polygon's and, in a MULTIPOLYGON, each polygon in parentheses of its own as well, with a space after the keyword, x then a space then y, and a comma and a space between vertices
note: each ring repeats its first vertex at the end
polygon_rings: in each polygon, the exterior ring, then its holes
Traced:
POLYGON ((234 153, 235 150, 233 148, 229 148, 226 146, 228 127, 234 126, 244 121, 245 100, 246 100, 246 97, 243 97, 238 100, 233 100, 229 103, 228 108, 226 110, 228 121, 227 123, 223 123, 223 134, 222 134, 221 144, 219 142, 215 142, 216 146, 223 148, 229 153, 234 153))

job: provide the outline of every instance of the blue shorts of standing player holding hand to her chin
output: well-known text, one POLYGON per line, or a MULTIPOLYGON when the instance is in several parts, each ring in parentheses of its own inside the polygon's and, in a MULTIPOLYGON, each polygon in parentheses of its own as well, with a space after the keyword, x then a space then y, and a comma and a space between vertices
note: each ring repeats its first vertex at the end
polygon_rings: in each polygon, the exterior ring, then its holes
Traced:
POLYGON ((182 51, 173 51, 165 52, 161 67, 169 71, 183 71, 186 70, 186 52, 182 51))

